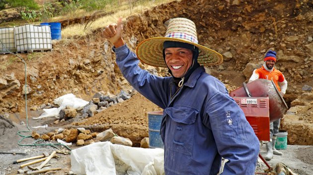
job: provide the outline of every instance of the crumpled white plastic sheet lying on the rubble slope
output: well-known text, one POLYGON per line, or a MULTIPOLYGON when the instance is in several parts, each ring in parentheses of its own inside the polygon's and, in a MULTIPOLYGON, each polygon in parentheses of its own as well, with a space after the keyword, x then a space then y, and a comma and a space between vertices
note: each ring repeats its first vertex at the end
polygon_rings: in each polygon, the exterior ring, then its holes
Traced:
POLYGON ((57 117, 61 109, 65 109, 67 106, 80 110, 89 103, 88 101, 75 97, 73 93, 69 93, 57 99, 54 99, 53 102, 59 105, 60 107, 43 109, 44 113, 42 113, 39 117, 33 117, 33 119, 41 119, 44 117, 57 117))

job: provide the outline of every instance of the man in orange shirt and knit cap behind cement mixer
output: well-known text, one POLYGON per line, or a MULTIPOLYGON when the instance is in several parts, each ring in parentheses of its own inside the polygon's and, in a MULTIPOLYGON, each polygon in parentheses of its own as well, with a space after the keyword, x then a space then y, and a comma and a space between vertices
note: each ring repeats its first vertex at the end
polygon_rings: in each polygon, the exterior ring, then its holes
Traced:
MULTIPOLYGON (((264 57, 264 64, 261 68, 255 69, 249 82, 257 79, 273 80, 280 94, 284 96, 287 89, 287 81, 284 75, 274 68, 276 63, 276 52, 269 50, 264 57)), ((270 141, 266 143, 266 160, 271 160, 273 153, 276 155, 282 155, 282 152, 275 149, 276 137, 279 132, 280 119, 270 123, 270 141)))

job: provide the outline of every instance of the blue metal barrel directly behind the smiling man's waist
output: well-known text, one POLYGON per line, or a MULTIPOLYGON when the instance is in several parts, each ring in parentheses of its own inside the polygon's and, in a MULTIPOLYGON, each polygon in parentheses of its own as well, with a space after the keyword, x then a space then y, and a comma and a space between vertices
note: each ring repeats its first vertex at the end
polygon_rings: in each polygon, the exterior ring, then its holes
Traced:
POLYGON ((160 136, 162 117, 162 111, 148 112, 150 148, 164 148, 164 144, 160 136))

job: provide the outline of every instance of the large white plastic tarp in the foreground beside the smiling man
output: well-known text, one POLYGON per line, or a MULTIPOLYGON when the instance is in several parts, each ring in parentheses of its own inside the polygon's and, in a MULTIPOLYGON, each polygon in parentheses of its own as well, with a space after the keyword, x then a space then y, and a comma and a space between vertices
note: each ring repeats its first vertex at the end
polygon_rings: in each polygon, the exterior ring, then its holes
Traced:
POLYGON ((164 150, 136 148, 109 141, 71 151, 72 172, 77 175, 164 175, 164 150))

